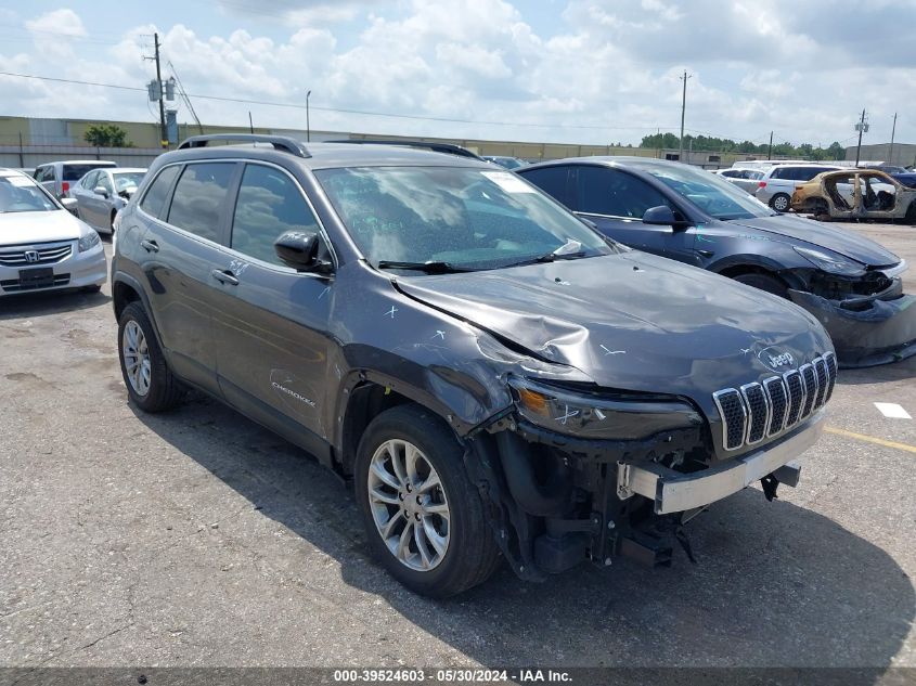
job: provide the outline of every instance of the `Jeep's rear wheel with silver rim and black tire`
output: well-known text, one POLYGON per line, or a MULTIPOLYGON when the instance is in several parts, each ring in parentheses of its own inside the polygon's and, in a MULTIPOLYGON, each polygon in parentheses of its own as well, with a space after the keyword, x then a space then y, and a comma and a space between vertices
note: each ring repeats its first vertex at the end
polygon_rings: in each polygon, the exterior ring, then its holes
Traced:
POLYGON ((181 400, 182 389, 168 368, 153 324, 139 302, 118 320, 118 358, 130 400, 144 412, 164 412, 181 400))

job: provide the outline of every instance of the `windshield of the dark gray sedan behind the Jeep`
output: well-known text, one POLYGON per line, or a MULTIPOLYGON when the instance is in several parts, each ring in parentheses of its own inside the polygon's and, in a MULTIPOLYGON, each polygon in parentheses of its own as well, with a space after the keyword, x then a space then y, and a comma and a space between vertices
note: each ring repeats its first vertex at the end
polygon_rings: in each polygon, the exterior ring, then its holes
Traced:
POLYGON ((682 197, 715 219, 772 217, 775 212, 718 174, 687 165, 628 161, 628 167, 646 171, 682 197))

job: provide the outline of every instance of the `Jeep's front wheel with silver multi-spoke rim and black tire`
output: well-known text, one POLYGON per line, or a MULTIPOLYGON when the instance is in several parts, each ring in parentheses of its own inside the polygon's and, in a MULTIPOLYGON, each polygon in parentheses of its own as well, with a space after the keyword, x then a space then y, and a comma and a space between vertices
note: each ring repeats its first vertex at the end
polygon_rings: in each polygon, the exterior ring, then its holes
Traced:
POLYGON ((370 548, 411 591, 453 596, 499 565, 463 449, 428 410, 399 405, 372 420, 357 452, 354 488, 370 548))

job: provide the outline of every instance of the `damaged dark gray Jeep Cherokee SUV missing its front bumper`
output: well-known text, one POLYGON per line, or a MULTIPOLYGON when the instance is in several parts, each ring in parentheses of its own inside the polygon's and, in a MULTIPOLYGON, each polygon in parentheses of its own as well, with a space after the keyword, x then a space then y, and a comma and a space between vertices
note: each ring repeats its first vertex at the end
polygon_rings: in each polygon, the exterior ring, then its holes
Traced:
POLYGON ((130 399, 197 388, 351 479, 409 587, 670 564, 710 503, 796 484, 837 371, 800 308, 486 163, 220 138, 160 156, 118 215, 130 399))

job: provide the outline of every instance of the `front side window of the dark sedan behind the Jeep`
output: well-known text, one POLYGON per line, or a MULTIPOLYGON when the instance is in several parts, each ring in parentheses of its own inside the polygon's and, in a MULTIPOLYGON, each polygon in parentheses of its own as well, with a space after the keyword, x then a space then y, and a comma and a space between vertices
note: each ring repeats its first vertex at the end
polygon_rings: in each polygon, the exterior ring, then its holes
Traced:
POLYGON ((661 193, 633 174, 607 167, 578 168, 576 209, 580 212, 642 219, 648 208, 659 205, 671 207, 661 193))

